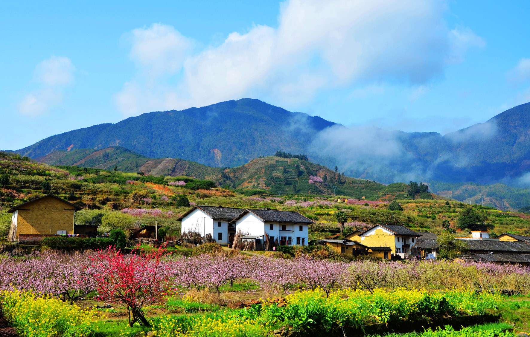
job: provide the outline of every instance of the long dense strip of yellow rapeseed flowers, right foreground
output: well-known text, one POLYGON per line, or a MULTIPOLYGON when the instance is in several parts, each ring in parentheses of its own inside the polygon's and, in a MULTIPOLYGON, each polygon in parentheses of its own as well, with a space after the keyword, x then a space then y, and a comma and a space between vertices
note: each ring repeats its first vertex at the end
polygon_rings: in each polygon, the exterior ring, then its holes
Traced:
POLYGON ((361 289, 343 289, 326 294, 321 289, 298 291, 287 295, 285 308, 287 320, 294 326, 323 326, 333 324, 358 326, 380 322, 388 323, 412 315, 424 314, 482 314, 485 308, 496 308, 501 297, 498 294, 458 289, 445 292, 428 292, 426 289, 393 291, 375 289, 373 293, 361 289), (311 319, 301 319, 308 317, 311 319))

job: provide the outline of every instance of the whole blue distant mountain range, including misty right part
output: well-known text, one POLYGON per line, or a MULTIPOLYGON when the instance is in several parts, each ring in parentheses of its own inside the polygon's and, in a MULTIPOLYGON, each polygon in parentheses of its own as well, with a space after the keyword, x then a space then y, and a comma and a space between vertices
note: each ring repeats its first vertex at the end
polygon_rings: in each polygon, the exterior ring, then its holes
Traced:
MULTIPOLYGON (((346 175, 384 183, 518 184, 530 176, 530 103, 442 136, 351 129, 245 98, 73 130, 16 152, 42 158, 55 151, 86 153, 108 147, 123 147, 145 158, 181 158, 216 167, 243 165, 282 150, 307 154, 329 167, 337 165, 346 175)), ((169 161, 166 166, 171 166, 169 161)))

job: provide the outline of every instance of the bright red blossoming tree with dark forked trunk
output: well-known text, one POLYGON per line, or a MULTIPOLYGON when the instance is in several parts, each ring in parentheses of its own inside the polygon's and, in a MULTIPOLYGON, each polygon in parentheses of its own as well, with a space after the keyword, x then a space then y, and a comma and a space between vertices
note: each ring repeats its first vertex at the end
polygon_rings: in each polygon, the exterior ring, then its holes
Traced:
POLYGON ((165 254, 164 249, 133 255, 113 248, 98 251, 92 258, 96 299, 127 308, 130 326, 136 322, 150 326, 142 308, 160 303, 166 295, 170 265, 162 261, 165 254))

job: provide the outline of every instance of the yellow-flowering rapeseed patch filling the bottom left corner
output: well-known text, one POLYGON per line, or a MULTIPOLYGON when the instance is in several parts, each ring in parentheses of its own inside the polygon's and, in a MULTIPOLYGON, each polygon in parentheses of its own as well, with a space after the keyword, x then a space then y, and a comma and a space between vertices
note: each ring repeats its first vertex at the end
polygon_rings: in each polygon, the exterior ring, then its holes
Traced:
POLYGON ((26 337, 83 337, 94 334, 94 310, 81 310, 49 296, 30 292, 0 293, 4 316, 26 337))

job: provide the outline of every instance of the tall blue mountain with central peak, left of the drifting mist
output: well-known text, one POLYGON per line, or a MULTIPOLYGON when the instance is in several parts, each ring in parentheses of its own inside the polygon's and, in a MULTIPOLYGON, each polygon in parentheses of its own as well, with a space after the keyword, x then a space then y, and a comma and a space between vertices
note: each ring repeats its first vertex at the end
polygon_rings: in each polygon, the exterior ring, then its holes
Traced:
POLYGON ((237 166, 282 149, 301 153, 312 134, 334 125, 257 99, 226 101, 182 111, 157 111, 116 124, 55 135, 17 151, 37 158, 54 151, 122 146, 148 157, 184 158, 237 166))

